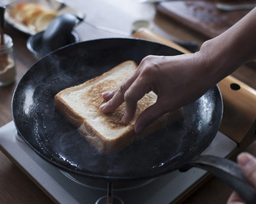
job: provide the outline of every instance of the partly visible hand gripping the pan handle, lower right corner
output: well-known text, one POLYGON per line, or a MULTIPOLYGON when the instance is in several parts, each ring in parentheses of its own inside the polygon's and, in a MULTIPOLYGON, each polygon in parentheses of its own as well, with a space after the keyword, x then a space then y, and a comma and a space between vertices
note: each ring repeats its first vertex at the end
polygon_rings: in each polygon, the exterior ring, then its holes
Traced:
MULTIPOLYGON (((237 162, 245 177, 248 178, 256 190, 256 158, 249 153, 241 153, 237 157, 237 162)), ((245 204, 245 202, 237 192, 232 192, 227 204, 245 204)))

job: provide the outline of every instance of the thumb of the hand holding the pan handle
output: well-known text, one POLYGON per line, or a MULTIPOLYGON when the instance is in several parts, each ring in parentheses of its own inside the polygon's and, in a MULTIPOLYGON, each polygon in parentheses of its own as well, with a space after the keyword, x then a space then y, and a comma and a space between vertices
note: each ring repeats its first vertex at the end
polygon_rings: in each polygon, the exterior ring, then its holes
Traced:
POLYGON ((237 157, 237 161, 245 177, 256 188, 256 158, 249 153, 243 152, 237 157))

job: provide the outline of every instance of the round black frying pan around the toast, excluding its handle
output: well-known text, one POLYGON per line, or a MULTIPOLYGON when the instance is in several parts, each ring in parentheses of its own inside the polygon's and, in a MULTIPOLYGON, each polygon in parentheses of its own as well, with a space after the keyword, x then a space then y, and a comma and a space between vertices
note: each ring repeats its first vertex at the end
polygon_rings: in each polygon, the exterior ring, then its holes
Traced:
MULTIPOLYGON (((198 165, 197 161, 199 165, 207 163, 205 157, 197 156, 211 144, 220 126, 222 100, 217 86, 184 106, 183 119, 177 123, 111 155, 99 154, 55 111, 54 96, 59 90, 88 81, 126 60, 139 64, 149 54, 180 53, 141 39, 97 39, 50 53, 32 66, 17 85, 12 100, 17 131, 51 164, 89 178, 153 178, 198 165)), ((214 160, 218 163, 220 158, 212 158, 208 163, 215 166, 214 160)))

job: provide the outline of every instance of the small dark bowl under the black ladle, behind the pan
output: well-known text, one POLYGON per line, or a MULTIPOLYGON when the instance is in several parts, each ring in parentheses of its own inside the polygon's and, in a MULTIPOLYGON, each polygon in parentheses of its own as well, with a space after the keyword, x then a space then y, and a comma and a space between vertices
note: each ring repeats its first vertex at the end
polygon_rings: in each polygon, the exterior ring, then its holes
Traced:
MULTIPOLYGON (((50 48, 45 46, 45 44, 42 43, 41 39, 42 39, 44 32, 45 31, 41 31, 41 32, 37 33, 36 35, 31 35, 31 37, 29 37, 26 41, 27 49, 29 49, 31 51, 31 53, 34 53, 36 58, 42 58, 46 54, 55 51, 55 50, 51 50, 50 48)), ((78 34, 74 31, 72 31, 69 35, 69 39, 67 40, 67 44, 65 44, 65 45, 78 43, 78 42, 79 42, 78 34)), ((60 46, 59 48, 61 48, 61 47, 63 47, 63 46, 60 46)))

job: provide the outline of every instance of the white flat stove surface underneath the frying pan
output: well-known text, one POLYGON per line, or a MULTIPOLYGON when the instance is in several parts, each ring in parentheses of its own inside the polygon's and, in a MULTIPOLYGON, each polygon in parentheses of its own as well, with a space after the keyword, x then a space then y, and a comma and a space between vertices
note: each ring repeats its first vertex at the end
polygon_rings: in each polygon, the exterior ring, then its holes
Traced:
MULTIPOLYGON (((218 132, 211 146, 202 155, 226 157, 235 151, 237 145, 230 138, 218 132)), ((17 137, 16 127, 12 122, 0 127, 0 150, 19 166, 40 188, 58 203, 96 203, 107 195, 106 190, 89 188, 67 178, 54 165, 43 160, 30 146, 17 137)), ((206 176, 206 171, 192 168, 186 173, 173 171, 144 186, 115 190, 114 196, 125 204, 168 204, 178 200, 196 183, 206 176)))

